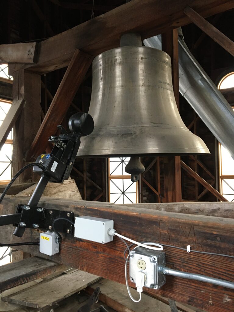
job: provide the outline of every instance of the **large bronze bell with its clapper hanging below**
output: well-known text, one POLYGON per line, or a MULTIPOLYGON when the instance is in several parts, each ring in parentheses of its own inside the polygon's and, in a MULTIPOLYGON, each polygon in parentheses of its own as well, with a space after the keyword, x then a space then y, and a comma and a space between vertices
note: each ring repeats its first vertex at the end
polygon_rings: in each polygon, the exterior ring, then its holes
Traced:
POLYGON ((133 182, 145 170, 139 157, 210 153, 179 115, 170 56, 142 46, 138 34, 95 57, 89 114, 94 130, 77 156, 130 157, 125 171, 133 182))

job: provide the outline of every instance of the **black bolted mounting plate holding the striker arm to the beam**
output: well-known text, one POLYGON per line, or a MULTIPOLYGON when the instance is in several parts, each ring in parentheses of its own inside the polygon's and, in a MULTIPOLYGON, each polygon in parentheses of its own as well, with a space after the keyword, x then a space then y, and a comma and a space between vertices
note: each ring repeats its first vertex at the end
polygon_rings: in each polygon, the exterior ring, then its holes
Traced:
MULTIPOLYGON (((43 208, 42 212, 38 212, 37 209, 41 207, 31 206, 29 210, 23 209, 26 205, 18 205, 16 213, 22 213, 20 222, 26 223, 26 228, 33 229, 33 224, 38 224, 39 228, 49 230, 49 226, 52 226, 52 223, 57 218, 65 218, 74 222, 74 212, 69 212, 70 216, 67 216, 68 211, 62 211, 58 209, 43 208), (52 211, 50 214, 49 212, 52 211)), ((17 224, 15 225, 17 226, 17 224)), ((66 220, 58 220, 54 224, 56 231, 64 233, 67 235, 74 234, 74 226, 66 220), (70 233, 67 233, 67 230, 70 230, 70 233)))

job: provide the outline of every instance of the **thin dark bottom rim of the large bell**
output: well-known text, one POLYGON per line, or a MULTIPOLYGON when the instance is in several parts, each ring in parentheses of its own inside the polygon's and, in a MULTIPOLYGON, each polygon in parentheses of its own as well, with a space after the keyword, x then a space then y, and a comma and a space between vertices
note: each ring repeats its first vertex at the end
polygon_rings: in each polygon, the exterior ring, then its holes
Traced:
POLYGON ((111 157, 159 157, 159 156, 189 156, 189 155, 209 155, 210 151, 204 153, 150 153, 150 154, 99 154, 99 155, 76 155, 76 158, 111 158, 111 157))

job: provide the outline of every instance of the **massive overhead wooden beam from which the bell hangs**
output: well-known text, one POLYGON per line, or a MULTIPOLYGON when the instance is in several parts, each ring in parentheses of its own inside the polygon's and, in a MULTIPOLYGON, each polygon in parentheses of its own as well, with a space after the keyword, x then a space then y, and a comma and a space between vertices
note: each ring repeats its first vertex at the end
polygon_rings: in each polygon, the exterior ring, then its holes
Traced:
MULTIPOLYGON (((39 60, 30 70, 53 71, 69 64, 76 48, 90 55, 119 46, 120 36, 138 32, 146 39, 189 24, 183 12, 191 0, 134 0, 39 43, 39 60)), ((230 0, 194 0, 193 9, 208 17, 234 8, 230 0)), ((15 70, 19 69, 18 66, 15 70)))

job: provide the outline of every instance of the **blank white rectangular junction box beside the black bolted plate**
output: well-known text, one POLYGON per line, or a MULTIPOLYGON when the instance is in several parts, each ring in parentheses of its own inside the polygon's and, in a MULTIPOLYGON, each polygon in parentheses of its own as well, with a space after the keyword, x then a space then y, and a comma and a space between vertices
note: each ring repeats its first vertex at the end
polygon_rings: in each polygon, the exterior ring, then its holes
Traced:
POLYGON ((114 228, 114 221, 95 217, 75 218, 75 237, 106 244, 113 241, 114 237, 109 235, 109 230, 114 228))

